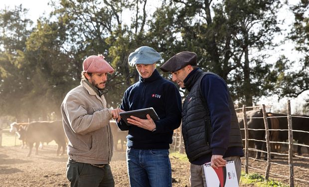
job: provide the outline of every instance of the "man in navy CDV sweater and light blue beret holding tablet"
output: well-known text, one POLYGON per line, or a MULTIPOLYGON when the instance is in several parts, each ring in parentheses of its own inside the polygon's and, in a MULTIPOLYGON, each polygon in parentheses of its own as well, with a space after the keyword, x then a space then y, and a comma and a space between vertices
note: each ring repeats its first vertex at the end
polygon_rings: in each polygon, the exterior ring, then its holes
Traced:
POLYGON ((173 130, 181 123, 181 98, 178 89, 160 76, 156 62, 160 54, 153 48, 142 46, 129 56, 129 64, 135 66, 140 80, 130 86, 120 108, 131 111, 153 107, 159 120, 134 116, 117 123, 127 136, 127 165, 131 187, 171 187, 171 166, 168 158, 173 130))

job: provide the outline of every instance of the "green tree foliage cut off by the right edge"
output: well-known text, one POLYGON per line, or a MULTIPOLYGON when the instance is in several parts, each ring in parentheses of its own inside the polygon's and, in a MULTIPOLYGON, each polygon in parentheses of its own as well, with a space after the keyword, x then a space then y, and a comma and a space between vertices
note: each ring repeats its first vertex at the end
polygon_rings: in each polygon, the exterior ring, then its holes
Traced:
POLYGON ((289 64, 297 64, 300 68, 296 71, 281 71, 277 80, 277 94, 280 97, 297 97, 306 90, 309 90, 309 1, 302 0, 292 6, 295 15, 293 28, 289 39, 294 41, 296 50, 304 56, 298 62, 290 62, 285 57, 278 60, 277 64, 285 67, 284 70, 293 67, 289 64))

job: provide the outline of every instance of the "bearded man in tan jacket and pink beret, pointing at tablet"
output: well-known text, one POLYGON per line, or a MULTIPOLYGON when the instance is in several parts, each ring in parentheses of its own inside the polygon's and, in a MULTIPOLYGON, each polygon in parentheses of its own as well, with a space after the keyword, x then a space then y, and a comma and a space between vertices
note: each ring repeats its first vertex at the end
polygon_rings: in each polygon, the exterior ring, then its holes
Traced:
POLYGON ((80 85, 62 102, 63 128, 69 140, 66 172, 71 187, 115 186, 109 166, 113 155, 109 121, 119 121, 122 110, 108 109, 104 98, 107 74, 113 72, 103 55, 87 57, 80 85))

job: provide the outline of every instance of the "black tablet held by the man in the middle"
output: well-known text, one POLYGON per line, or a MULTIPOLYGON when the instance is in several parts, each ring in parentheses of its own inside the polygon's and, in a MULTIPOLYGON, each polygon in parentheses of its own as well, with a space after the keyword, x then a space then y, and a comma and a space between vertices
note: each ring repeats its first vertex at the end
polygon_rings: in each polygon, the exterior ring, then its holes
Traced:
POLYGON ((135 116, 141 119, 147 119, 146 115, 149 114, 150 117, 154 120, 157 121, 160 118, 157 116, 157 114, 154 111, 154 108, 144 108, 144 109, 139 109, 139 110, 132 110, 132 111, 127 111, 127 112, 121 112, 119 113, 121 118, 126 122, 127 125, 132 125, 128 123, 127 118, 130 118, 130 116, 135 116))

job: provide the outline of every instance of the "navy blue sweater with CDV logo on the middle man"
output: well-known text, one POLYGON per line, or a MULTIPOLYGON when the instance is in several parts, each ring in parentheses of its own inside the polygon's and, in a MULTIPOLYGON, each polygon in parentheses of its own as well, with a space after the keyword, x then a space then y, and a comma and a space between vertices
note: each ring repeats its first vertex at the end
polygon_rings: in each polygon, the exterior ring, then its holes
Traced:
POLYGON ((181 123, 181 97, 176 86, 162 78, 157 70, 147 79, 140 76, 140 81, 126 90, 120 106, 124 111, 149 107, 153 107, 160 118, 154 121, 156 131, 152 132, 135 125, 127 126, 123 120, 117 125, 122 131, 129 130, 129 148, 169 149, 173 130, 181 123))

